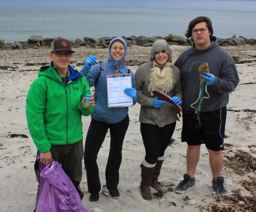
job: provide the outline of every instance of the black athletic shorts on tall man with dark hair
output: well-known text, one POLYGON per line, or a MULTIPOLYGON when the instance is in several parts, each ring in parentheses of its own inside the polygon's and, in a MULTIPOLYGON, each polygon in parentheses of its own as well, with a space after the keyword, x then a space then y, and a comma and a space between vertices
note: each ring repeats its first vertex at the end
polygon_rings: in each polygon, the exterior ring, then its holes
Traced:
POLYGON ((213 112, 201 112, 201 127, 195 113, 183 113, 182 142, 196 146, 205 144, 213 151, 223 150, 227 108, 226 106, 213 112))

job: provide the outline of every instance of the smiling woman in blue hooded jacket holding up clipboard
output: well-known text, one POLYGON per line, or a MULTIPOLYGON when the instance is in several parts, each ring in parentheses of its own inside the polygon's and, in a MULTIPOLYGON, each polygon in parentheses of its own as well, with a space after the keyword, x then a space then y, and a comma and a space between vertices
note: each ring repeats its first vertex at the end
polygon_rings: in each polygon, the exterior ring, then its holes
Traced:
POLYGON ((128 107, 108 108, 107 78, 109 74, 131 74, 132 88, 124 92, 132 97, 136 104, 136 83, 132 71, 126 67, 127 44, 122 38, 113 38, 109 44, 109 57, 101 65, 95 56, 90 56, 80 73, 86 77, 90 87, 94 86, 94 113, 91 114, 91 123, 85 141, 85 169, 88 191, 91 193, 89 201, 99 201, 101 182, 97 167, 97 154, 103 144, 108 129, 110 130, 110 151, 106 166, 106 184, 112 198, 119 198, 117 190, 119 184, 119 168, 122 161, 123 141, 129 125, 128 107), (93 65, 93 67, 92 67, 93 65), (103 71, 103 72, 102 72, 103 71), (107 73, 107 74, 106 74, 107 73))

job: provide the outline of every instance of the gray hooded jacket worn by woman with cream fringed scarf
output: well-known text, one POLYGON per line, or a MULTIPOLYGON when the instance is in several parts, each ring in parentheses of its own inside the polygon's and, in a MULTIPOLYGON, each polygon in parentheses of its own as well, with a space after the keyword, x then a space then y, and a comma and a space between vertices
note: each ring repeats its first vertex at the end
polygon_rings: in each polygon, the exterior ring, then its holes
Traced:
MULTIPOLYGON (((153 67, 152 60, 155 52, 165 51, 171 61, 172 53, 165 40, 156 40, 152 45, 150 61, 139 66, 134 74, 137 87, 137 102, 141 104, 139 122, 153 124, 159 127, 176 122, 176 110, 169 103, 165 103, 161 108, 154 108, 153 101, 155 96, 151 96, 148 86, 150 84, 149 73, 153 67)), ((178 67, 172 66, 173 86, 167 94, 170 97, 176 96, 182 100, 181 92, 181 73, 178 67)))

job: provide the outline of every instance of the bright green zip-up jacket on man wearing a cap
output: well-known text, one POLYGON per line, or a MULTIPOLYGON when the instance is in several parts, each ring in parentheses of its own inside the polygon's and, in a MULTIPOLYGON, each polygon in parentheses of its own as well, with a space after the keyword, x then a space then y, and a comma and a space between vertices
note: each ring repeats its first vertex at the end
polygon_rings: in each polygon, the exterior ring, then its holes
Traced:
POLYGON ((86 78, 70 65, 69 70, 65 85, 52 66, 42 66, 28 91, 28 129, 40 152, 50 151, 51 145, 68 145, 81 140, 82 115, 88 116, 94 110, 94 107, 82 105, 83 97, 91 94, 86 78))

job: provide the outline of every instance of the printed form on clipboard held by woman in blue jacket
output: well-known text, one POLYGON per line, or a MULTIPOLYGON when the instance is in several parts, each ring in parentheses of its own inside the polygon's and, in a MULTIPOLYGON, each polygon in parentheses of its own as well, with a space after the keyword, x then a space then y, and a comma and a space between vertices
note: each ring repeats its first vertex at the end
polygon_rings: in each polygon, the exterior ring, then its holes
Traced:
POLYGON ((124 89, 131 86, 131 74, 107 75, 108 107, 131 107, 132 98, 124 89))

